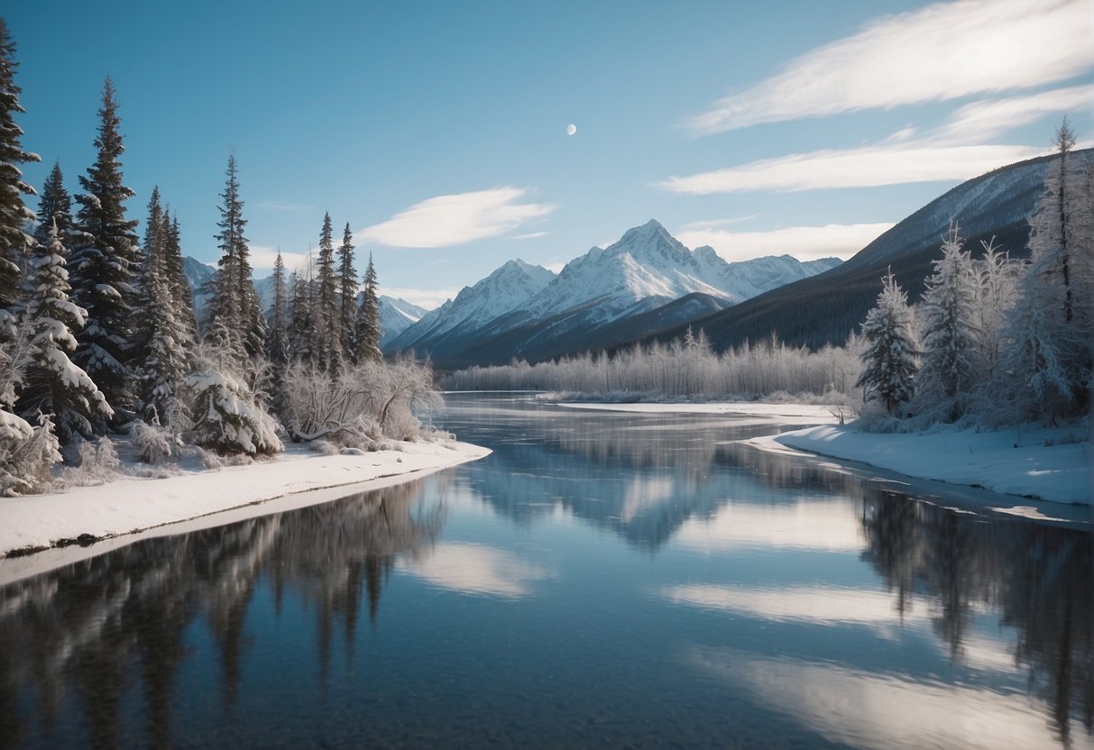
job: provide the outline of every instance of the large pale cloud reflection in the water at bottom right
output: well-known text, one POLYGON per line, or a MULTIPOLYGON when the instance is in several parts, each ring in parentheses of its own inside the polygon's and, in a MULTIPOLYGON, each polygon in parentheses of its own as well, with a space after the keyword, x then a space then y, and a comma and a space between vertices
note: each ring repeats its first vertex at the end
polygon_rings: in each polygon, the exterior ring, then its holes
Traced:
POLYGON ((1044 714, 1020 694, 790 664, 729 648, 695 647, 686 661, 826 739, 858 748, 1028 750, 1047 739, 1044 714))

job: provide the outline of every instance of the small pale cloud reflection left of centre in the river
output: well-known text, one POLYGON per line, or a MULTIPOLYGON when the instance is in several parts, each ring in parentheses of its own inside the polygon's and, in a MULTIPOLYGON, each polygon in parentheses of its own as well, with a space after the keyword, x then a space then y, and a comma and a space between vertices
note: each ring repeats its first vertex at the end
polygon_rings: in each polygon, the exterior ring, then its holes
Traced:
POLYGON ((532 582, 554 577, 550 571, 512 552, 458 542, 438 544, 432 554, 398 566, 441 588, 510 599, 531 594, 532 582))

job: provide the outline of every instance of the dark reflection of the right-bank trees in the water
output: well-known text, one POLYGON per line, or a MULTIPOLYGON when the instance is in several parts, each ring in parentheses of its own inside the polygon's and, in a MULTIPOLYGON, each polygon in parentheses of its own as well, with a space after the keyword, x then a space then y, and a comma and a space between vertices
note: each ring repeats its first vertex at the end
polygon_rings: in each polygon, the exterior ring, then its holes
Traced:
POLYGON ((1072 722, 1094 729, 1094 559, 1089 531, 1014 520, 986 524, 903 495, 865 500, 869 560, 904 611, 912 589, 936 609, 932 622, 963 658, 978 608, 1002 612, 1017 631, 1015 663, 1048 703, 1064 747, 1072 722))

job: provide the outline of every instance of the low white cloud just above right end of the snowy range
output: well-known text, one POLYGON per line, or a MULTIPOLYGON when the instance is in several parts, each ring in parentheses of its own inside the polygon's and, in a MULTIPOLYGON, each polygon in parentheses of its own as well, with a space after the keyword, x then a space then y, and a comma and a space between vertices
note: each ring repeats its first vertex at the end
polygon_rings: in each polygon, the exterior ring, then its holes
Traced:
MULTIPOLYGON (((714 222, 699 222, 714 223, 714 222)), ((688 225, 694 226, 694 225, 688 225)), ((892 223, 827 224, 825 226, 784 226, 769 232, 730 232, 717 228, 688 228, 675 233, 688 247, 710 245, 726 260, 748 260, 765 255, 789 254, 799 260, 849 258, 873 242, 892 223)))

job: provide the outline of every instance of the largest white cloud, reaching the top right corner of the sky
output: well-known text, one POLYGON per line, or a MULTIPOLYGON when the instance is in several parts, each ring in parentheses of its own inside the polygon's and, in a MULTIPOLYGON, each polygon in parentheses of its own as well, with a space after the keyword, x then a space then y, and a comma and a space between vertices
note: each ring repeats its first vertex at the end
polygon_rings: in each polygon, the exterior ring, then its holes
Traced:
POLYGON ((1089 0, 965 0, 887 15, 687 121, 698 134, 1063 81, 1094 66, 1089 0))

